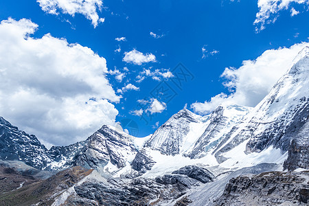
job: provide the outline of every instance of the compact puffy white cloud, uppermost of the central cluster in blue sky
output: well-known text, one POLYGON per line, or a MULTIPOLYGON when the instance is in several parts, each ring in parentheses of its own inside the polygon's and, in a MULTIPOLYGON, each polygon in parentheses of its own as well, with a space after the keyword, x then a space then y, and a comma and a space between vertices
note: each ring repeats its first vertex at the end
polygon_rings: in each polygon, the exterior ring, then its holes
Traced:
POLYGON ((142 65, 143 63, 155 62, 156 56, 153 54, 143 54, 136 49, 133 49, 130 52, 124 53, 124 62, 133 63, 135 65, 142 65))

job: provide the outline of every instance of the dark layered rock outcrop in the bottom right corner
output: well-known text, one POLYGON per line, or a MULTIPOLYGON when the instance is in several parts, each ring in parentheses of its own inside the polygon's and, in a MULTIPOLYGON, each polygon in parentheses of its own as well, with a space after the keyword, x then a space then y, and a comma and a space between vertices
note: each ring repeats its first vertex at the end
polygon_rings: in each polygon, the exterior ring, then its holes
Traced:
POLYGON ((309 172, 264 172, 231 179, 215 205, 308 205, 309 172))

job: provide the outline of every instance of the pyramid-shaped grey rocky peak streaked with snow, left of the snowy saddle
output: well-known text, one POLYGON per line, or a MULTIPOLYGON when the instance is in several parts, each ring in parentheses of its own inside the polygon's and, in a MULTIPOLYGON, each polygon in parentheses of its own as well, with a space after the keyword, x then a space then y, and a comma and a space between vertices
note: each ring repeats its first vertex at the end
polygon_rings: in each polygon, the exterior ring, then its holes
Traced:
POLYGON ((84 168, 104 168, 106 165, 114 165, 114 170, 124 168, 137 154, 134 139, 136 137, 113 126, 104 125, 86 141, 65 147, 52 147, 49 152, 57 155, 54 155, 55 161, 47 165, 47 169, 60 170, 76 165, 84 168))

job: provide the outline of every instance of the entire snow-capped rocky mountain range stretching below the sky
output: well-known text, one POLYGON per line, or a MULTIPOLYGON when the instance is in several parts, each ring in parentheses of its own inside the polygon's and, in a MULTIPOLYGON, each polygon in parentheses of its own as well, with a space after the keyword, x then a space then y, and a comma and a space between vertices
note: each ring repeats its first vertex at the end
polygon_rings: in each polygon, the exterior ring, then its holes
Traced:
POLYGON ((0 203, 306 205, 308 119, 309 47, 254 108, 183 108, 144 138, 104 125, 47 150, 0 117, 0 203))

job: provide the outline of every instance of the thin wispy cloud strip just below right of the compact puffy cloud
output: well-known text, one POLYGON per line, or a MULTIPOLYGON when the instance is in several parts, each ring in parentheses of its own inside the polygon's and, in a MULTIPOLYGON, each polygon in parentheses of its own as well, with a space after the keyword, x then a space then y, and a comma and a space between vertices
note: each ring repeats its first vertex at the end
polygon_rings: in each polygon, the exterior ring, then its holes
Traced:
POLYGON ((162 78, 168 79, 173 77, 174 75, 168 69, 155 69, 155 71, 151 71, 150 69, 143 69, 136 77, 136 82, 142 82, 146 79, 146 77, 152 77, 153 80, 161 81, 162 78))

